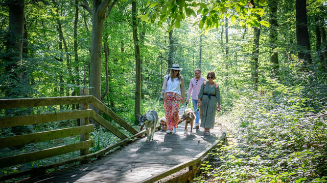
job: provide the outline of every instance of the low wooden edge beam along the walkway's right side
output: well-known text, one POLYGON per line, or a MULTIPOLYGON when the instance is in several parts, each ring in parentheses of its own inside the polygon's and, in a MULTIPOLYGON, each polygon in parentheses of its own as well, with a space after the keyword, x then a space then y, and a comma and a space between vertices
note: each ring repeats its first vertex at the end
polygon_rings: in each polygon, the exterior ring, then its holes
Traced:
POLYGON ((155 181, 158 181, 162 178, 165 178, 173 173, 176 173, 186 167, 194 167, 196 166, 199 162, 202 161, 202 158, 207 155, 209 153, 209 151, 211 151, 212 149, 214 149, 219 143, 221 143, 221 141, 224 141, 224 139, 226 138, 226 133, 224 132, 221 136, 220 136, 220 139, 217 140, 215 143, 213 143, 211 146, 209 146, 208 148, 206 148, 205 150, 203 150, 198 156, 196 156, 195 158, 193 158, 192 160, 190 161, 187 161, 185 163, 180 163, 164 172, 161 172, 161 173, 158 173, 158 174, 155 174, 145 180, 142 180, 142 181, 139 181, 138 183, 152 183, 152 182, 155 182, 155 181))

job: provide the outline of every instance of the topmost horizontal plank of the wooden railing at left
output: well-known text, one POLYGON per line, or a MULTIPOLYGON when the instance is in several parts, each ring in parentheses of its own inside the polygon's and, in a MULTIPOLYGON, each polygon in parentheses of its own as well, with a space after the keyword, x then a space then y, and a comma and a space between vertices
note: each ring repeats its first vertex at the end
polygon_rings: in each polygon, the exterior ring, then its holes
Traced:
POLYGON ((90 103, 93 96, 0 99, 0 109, 90 103))

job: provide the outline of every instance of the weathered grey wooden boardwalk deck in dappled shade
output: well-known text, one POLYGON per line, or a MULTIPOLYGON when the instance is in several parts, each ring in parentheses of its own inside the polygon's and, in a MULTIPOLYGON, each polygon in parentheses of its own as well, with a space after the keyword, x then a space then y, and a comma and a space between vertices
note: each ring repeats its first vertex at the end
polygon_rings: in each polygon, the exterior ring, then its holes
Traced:
POLYGON ((200 128, 194 129, 193 135, 186 136, 182 123, 176 134, 158 131, 151 142, 145 143, 146 138, 141 138, 101 160, 24 182, 139 182, 200 154, 222 135, 218 129, 211 132, 210 136, 204 136, 200 128))

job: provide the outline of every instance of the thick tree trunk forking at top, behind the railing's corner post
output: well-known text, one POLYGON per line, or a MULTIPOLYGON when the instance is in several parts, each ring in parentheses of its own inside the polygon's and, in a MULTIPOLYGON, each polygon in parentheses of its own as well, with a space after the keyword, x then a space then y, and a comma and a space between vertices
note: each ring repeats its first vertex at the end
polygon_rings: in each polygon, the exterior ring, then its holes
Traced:
POLYGON ((91 39, 91 63, 89 87, 90 95, 101 99, 101 50, 104 20, 110 15, 112 8, 118 0, 94 0, 92 9, 88 6, 87 0, 81 4, 92 14, 92 39, 91 39), (107 10, 107 11, 106 11, 107 10))

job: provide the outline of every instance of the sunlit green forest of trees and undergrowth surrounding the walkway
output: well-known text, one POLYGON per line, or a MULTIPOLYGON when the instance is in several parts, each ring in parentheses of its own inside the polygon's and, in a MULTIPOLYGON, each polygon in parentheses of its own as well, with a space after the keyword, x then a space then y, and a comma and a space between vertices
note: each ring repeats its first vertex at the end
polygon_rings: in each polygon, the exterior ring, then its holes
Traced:
MULTIPOLYGON (((227 133, 228 144, 212 152, 213 160, 202 164, 194 182, 327 181, 327 1, 2 0, 0 5, 1 99, 79 96, 88 88, 138 129, 135 116, 157 101, 155 110, 164 116, 159 97, 172 64, 183 68, 185 96, 196 68, 202 77, 214 71, 222 106, 216 125, 227 133)), ((1 109, 0 117, 79 107, 1 109)), ((78 123, 0 128, 0 138, 78 123)), ((90 151, 119 140, 99 126, 90 138, 95 140, 90 151)), ((0 158, 71 141, 76 139, 0 148, 0 158)), ((0 175, 78 153, 1 168, 0 175)))

